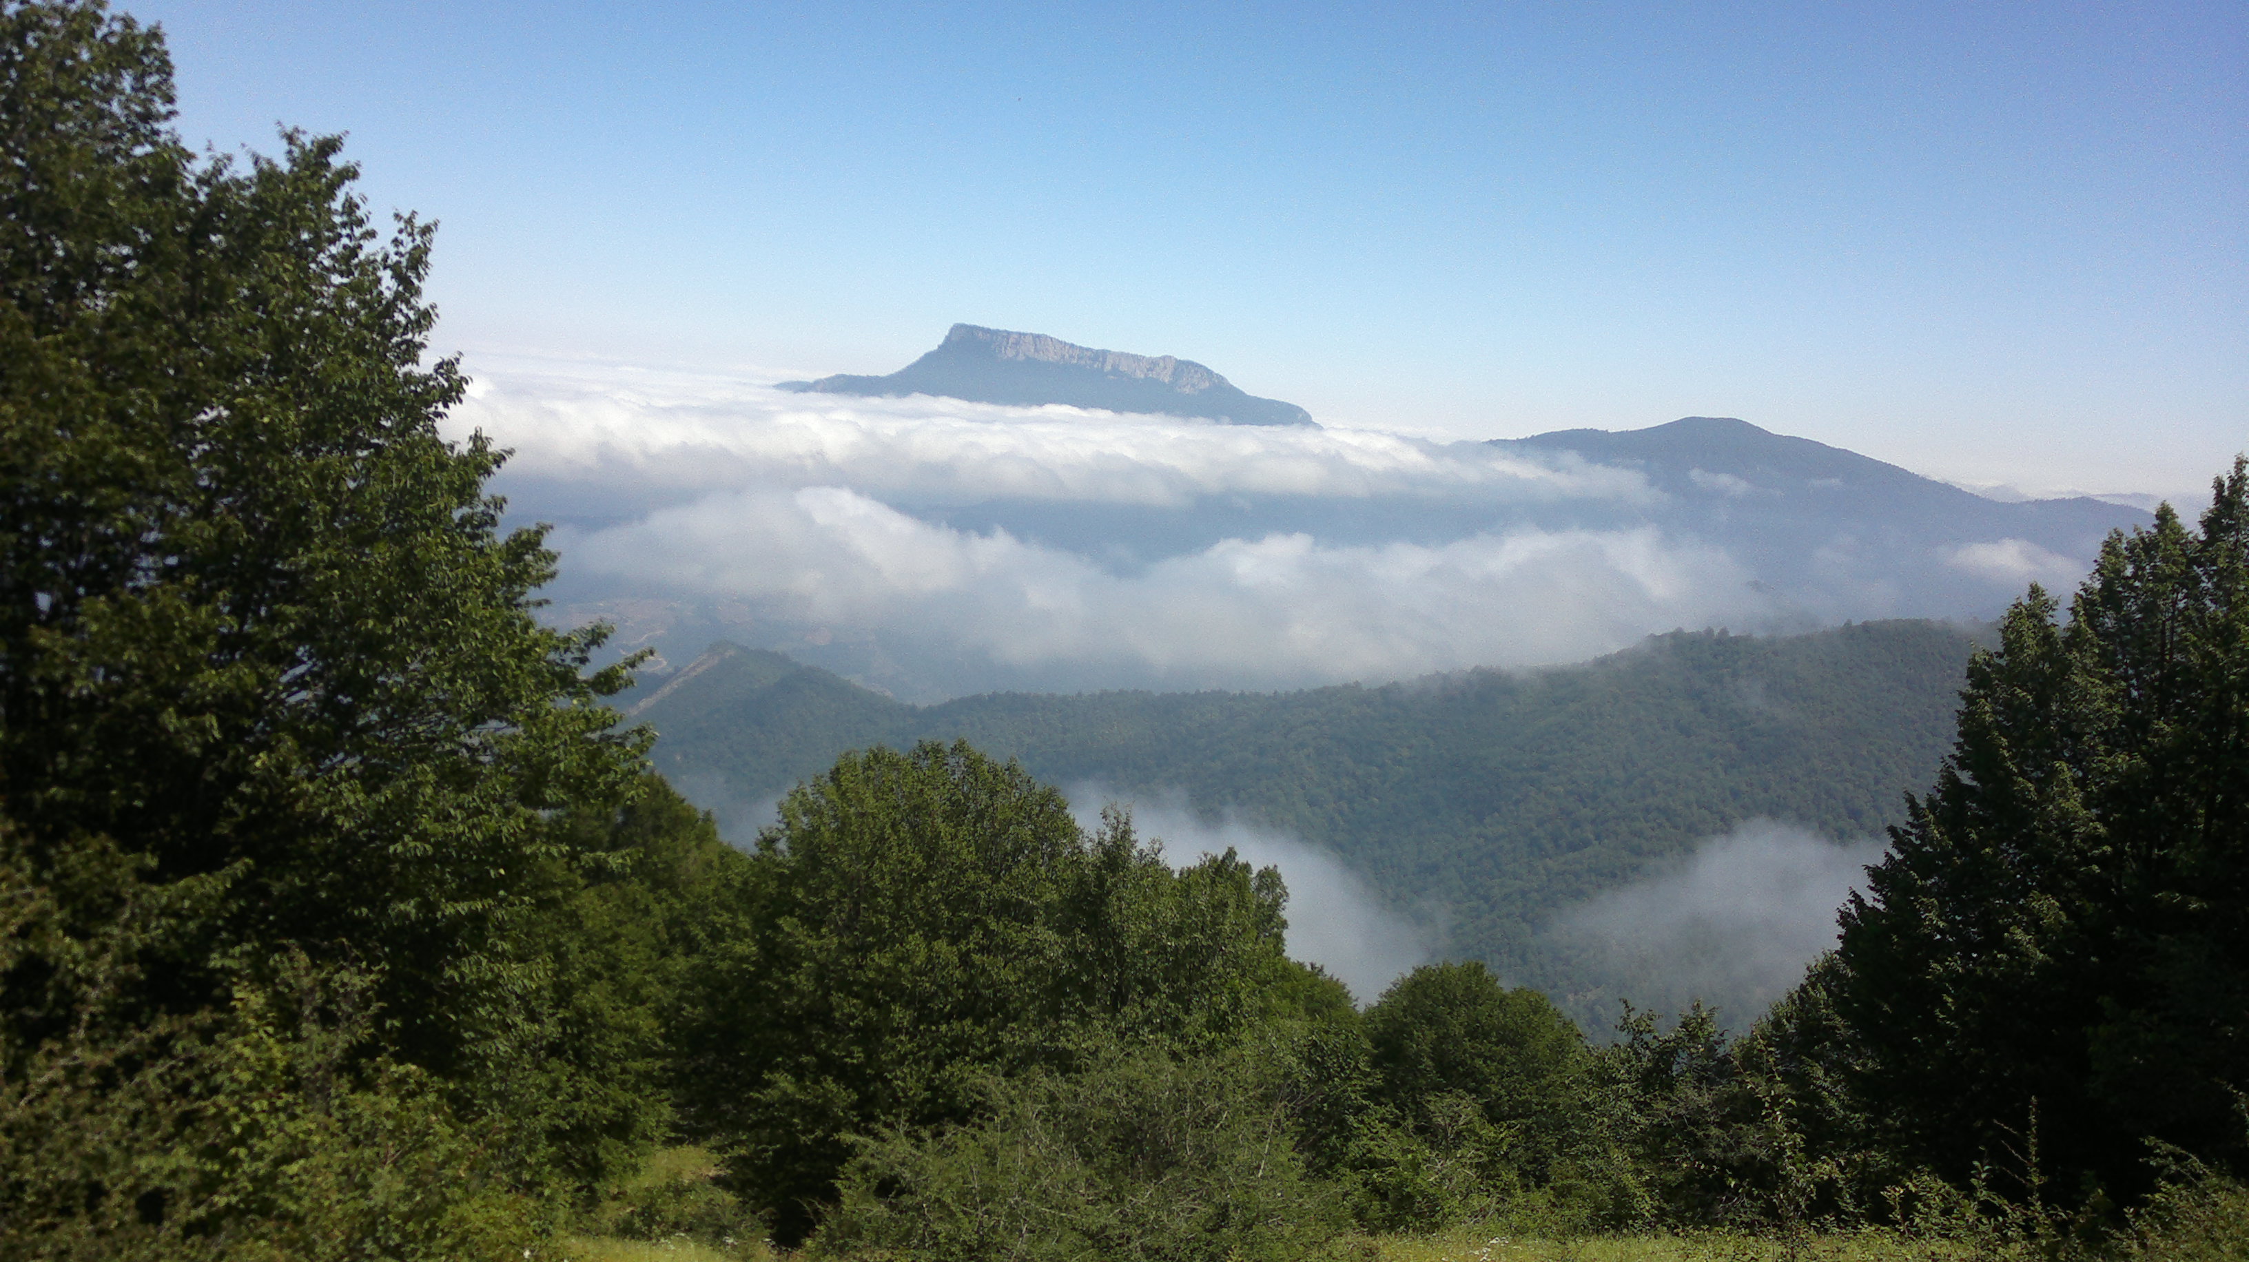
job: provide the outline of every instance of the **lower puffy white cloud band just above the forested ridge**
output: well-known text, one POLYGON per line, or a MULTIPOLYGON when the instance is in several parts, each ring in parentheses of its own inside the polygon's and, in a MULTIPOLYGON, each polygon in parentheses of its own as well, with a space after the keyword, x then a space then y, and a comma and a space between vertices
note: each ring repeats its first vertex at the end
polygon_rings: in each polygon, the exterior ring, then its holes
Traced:
POLYGON ((1122 666, 1174 686, 1572 661, 1651 630, 1761 612, 1725 553, 1653 529, 1514 529, 1439 547, 1266 535, 1113 574, 816 486, 715 495, 556 542, 580 574, 618 587, 940 637, 1001 666, 1122 666))

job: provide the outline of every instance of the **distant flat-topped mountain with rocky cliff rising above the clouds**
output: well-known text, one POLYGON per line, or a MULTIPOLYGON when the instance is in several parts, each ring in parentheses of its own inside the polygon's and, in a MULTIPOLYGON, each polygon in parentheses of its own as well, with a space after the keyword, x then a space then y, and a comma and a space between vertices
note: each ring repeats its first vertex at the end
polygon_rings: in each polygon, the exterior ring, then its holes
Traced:
POLYGON ((1228 425, 1311 425, 1311 414, 1302 407, 1244 394, 1194 360, 1098 351, 1044 333, 976 324, 954 324, 936 351, 895 373, 785 380, 780 389, 877 398, 940 394, 1017 407, 1066 403, 1104 412, 1199 416, 1228 425))

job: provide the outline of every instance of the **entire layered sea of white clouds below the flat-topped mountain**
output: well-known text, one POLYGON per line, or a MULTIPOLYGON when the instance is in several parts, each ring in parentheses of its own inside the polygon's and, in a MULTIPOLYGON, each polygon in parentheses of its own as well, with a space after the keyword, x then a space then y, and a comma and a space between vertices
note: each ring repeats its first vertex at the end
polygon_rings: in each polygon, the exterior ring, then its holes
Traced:
POLYGON ((558 619, 623 623, 672 664, 720 637, 783 648, 909 700, 1383 682, 1673 628, 1988 616, 2083 565, 2020 538, 1916 553, 1864 524, 1772 524, 1741 477, 1667 493, 1572 452, 475 369, 448 430, 511 448, 495 490, 558 526, 558 619))

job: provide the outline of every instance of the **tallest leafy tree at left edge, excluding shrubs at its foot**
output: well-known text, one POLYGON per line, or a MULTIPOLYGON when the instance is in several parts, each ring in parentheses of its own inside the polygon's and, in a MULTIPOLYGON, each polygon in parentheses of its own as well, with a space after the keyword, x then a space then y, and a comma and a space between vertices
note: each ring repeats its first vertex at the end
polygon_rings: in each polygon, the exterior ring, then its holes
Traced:
MULTIPOLYGON (((378 234, 335 137, 196 160, 171 106, 155 29, 0 9, 4 812, 56 893, 103 837, 133 880, 223 877, 128 970, 146 1019, 297 952, 486 1109, 542 1057, 522 875, 576 862, 547 817, 641 767, 600 704, 625 670, 538 623, 556 558, 502 531, 502 452, 439 434, 430 227, 378 234)), ((0 979, 18 1039, 36 981, 0 979)), ((517 1143, 538 1168, 538 1120, 517 1143)))

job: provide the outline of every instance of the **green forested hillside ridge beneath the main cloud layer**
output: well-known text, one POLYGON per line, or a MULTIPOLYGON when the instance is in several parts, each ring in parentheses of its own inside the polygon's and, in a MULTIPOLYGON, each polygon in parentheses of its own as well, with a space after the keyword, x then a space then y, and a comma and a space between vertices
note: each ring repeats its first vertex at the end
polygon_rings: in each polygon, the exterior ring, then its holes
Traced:
POLYGON ((657 765, 758 801, 843 749, 967 738, 1035 776, 1183 792, 1329 846, 1444 927, 1444 954, 1572 988, 1541 916, 1741 821, 1880 835, 1952 738, 1972 632, 1673 632, 1588 666, 1302 693, 983 695, 906 706, 722 646, 639 706, 657 765))

